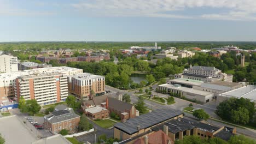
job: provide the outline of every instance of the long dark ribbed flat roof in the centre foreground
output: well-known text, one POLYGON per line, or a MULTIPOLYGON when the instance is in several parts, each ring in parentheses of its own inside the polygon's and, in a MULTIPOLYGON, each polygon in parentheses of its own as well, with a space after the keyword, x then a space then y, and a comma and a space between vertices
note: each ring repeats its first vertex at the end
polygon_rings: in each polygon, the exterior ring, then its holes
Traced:
POLYGON ((159 109, 136 118, 130 118, 125 123, 116 123, 114 127, 131 135, 136 133, 138 130, 152 127, 153 125, 167 121, 168 119, 182 114, 183 112, 179 110, 159 109), (137 129, 138 125, 140 126, 139 129, 137 129))

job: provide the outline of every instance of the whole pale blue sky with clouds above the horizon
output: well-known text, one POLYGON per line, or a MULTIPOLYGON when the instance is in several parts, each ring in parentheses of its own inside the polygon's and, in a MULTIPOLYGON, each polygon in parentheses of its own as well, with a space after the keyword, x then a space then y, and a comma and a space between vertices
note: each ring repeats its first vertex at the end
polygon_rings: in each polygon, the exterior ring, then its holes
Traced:
POLYGON ((0 41, 256 41, 255 0, 0 0, 0 41))

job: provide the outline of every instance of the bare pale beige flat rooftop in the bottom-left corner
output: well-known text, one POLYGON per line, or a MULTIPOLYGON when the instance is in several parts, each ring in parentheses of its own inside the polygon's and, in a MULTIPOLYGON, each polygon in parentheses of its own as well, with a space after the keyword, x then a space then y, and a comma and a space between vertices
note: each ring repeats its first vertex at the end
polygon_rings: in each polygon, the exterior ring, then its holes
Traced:
POLYGON ((37 140, 36 135, 32 135, 17 116, 0 118, 0 133, 5 139, 5 144, 28 144, 37 140))

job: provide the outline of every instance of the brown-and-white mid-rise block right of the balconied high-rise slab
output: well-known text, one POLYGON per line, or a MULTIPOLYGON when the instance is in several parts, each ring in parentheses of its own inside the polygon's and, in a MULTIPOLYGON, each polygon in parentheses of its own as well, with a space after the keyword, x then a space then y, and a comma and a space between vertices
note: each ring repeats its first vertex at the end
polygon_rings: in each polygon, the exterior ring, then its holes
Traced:
POLYGON ((77 95, 78 99, 88 98, 91 91, 95 94, 105 92, 105 77, 90 73, 68 76, 68 90, 77 95))

